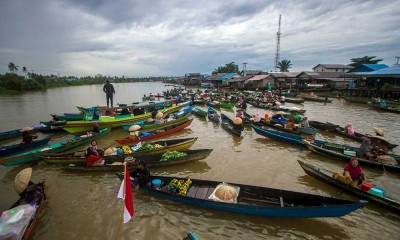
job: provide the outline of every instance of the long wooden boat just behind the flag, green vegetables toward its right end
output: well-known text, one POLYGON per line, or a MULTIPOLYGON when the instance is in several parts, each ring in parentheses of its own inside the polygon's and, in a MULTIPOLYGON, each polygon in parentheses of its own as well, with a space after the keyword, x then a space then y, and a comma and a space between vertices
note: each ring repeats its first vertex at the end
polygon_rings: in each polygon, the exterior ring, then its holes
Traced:
MULTIPOLYGON (((212 149, 196 149, 196 150, 186 150, 182 151, 186 156, 173 158, 170 160, 162 160, 163 153, 152 154, 152 155, 144 155, 144 156, 135 156, 135 162, 144 161, 149 168, 158 168, 158 167, 167 167, 173 165, 179 165, 194 161, 199 161, 207 158, 212 149)), ((85 163, 76 163, 76 164, 67 164, 62 166, 64 170, 80 170, 80 171, 118 171, 124 168, 123 166, 124 160, 110 160, 107 159, 104 166, 98 167, 88 167, 85 163), (117 163, 117 164, 116 164, 117 163)), ((136 166, 132 166, 134 168, 136 166)))

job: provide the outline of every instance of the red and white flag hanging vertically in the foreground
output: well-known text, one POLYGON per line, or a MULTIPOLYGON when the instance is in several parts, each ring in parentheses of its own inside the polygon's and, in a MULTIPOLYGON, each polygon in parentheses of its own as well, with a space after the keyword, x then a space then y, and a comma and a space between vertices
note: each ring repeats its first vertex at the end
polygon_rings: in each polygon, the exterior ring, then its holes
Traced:
POLYGON ((128 167, 126 165, 124 179, 122 180, 121 187, 119 188, 118 192, 118 198, 124 199, 124 223, 127 223, 133 217, 135 209, 133 207, 131 179, 129 176, 128 167))

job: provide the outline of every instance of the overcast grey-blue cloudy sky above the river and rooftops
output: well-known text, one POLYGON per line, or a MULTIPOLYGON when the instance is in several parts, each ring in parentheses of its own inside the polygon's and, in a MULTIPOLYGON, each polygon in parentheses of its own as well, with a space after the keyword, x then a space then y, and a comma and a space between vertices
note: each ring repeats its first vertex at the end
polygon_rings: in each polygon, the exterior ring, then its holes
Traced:
POLYGON ((270 71, 279 14, 291 71, 400 55, 399 0, 1 0, 0 73, 10 62, 75 76, 211 73, 229 62, 270 71))

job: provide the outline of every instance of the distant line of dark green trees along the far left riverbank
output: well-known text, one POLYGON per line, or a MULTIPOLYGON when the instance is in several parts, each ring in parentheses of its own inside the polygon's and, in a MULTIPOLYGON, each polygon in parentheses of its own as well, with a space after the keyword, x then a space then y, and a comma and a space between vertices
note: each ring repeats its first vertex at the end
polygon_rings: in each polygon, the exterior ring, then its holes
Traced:
POLYGON ((25 91, 46 90, 47 88, 80 86, 92 84, 104 84, 106 80, 111 82, 148 82, 162 81, 170 77, 111 77, 97 74, 95 76, 57 76, 41 75, 28 71, 22 67, 23 75, 18 74, 19 66, 8 64, 9 73, 0 74, 0 93, 20 93, 25 91))

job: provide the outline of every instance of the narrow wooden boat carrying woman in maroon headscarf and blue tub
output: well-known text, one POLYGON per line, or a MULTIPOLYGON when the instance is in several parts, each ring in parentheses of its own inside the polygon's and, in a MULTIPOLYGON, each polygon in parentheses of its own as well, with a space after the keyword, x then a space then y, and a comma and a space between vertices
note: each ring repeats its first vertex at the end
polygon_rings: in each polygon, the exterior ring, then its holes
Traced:
POLYGON ((299 161, 300 166, 303 168, 303 170, 310 176, 313 176, 315 178, 321 179, 325 182, 328 182, 330 184, 333 184, 337 187, 340 187, 349 193, 356 195, 362 199, 368 199, 370 201, 373 201, 375 203, 381 204, 383 206, 392 208, 394 210, 400 211, 400 202, 396 201, 394 199, 388 198, 388 197, 380 197, 374 194, 371 194, 367 191, 363 191, 360 188, 355 188, 349 185, 346 185, 332 177, 333 172, 328 171, 326 169, 321 169, 319 167, 316 167, 314 165, 299 161))

